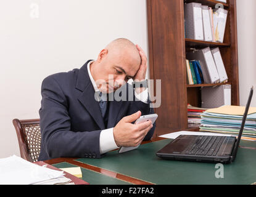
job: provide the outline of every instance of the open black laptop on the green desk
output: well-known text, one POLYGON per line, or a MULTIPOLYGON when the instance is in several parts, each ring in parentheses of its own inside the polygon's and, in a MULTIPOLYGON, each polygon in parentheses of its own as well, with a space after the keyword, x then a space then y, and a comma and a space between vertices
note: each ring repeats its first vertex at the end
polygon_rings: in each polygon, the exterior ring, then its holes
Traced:
POLYGON ((234 136, 180 135, 156 155, 163 159, 180 161, 232 163, 236 158, 253 92, 252 87, 237 139, 234 136))

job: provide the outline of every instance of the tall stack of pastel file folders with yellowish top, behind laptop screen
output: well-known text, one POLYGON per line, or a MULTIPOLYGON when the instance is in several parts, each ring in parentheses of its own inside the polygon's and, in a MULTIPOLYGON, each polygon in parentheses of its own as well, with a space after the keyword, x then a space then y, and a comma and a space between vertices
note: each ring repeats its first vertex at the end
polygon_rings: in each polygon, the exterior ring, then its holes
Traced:
MULTIPOLYGON (((238 136, 245 107, 225 105, 204 111, 200 131, 217 132, 238 136)), ((242 139, 256 140, 256 108, 250 107, 242 139)))

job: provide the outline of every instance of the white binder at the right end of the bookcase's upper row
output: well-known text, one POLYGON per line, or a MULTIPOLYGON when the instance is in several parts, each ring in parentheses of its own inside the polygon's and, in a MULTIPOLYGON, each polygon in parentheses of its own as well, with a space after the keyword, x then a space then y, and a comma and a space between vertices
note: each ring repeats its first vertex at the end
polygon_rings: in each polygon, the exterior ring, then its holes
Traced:
POLYGON ((217 42, 223 43, 227 17, 228 10, 222 9, 221 7, 213 10, 214 33, 215 41, 217 42))

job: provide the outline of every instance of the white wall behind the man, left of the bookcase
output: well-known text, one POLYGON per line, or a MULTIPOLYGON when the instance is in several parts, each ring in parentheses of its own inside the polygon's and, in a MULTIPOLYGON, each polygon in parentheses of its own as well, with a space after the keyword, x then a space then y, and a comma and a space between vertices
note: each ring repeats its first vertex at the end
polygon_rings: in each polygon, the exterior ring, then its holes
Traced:
POLYGON ((20 155, 12 119, 39 118, 46 76, 80 68, 116 38, 148 54, 146 0, 6 0, 0 24, 0 158, 20 155))

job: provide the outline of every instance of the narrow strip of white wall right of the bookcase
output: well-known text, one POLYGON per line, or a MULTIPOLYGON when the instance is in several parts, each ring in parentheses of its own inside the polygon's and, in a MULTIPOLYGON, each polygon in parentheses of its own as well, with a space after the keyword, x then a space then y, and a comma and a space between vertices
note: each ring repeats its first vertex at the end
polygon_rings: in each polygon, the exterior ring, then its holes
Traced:
MULTIPOLYGON (((250 87, 256 87, 256 1, 236 0, 240 105, 246 105, 250 87)), ((256 107, 254 88, 251 106, 256 107)))

